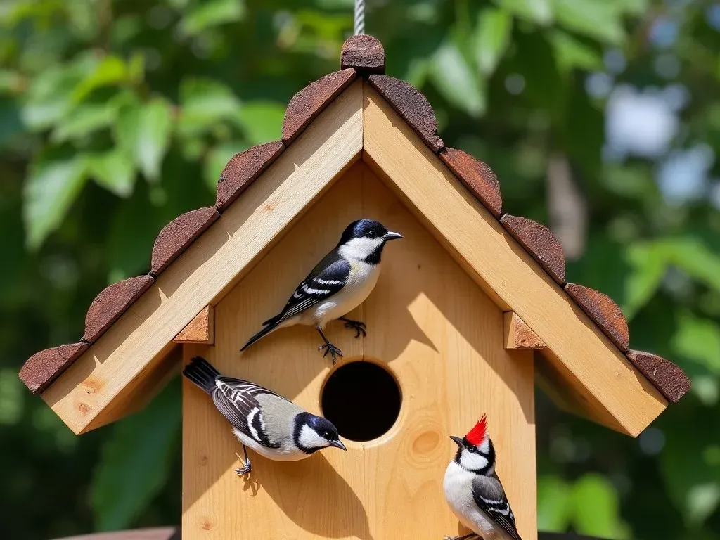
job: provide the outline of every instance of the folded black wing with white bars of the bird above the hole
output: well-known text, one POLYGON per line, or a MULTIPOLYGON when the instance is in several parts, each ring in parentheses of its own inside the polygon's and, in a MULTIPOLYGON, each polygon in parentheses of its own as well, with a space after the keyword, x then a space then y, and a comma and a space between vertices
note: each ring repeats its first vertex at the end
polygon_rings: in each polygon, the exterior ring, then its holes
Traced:
POLYGON ((348 282, 349 275, 350 264, 341 258, 337 251, 330 251, 300 282, 276 320, 271 319, 265 324, 282 323, 295 315, 300 315, 325 298, 337 294, 348 282))

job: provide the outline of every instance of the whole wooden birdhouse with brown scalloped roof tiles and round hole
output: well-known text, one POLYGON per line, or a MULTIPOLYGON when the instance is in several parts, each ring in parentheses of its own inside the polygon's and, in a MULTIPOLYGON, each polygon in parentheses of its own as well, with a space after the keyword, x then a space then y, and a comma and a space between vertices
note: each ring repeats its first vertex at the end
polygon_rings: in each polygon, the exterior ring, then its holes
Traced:
POLYGON ((341 71, 292 98, 282 140, 230 160, 215 206, 163 228, 148 274, 107 287, 83 338, 35 354, 20 377, 80 434, 143 407, 197 355, 334 419, 348 451, 286 463, 253 454, 240 478, 240 444, 185 380, 184 540, 462 533, 442 489, 448 436, 482 413, 518 531, 535 540, 536 382, 629 436, 690 387, 675 364, 629 348, 613 300, 566 282, 552 233, 504 212, 490 167, 446 148, 425 96, 384 75, 382 45, 364 35, 343 45, 341 71), (335 366, 304 326, 241 353, 361 217, 405 236, 351 313, 367 336, 330 323, 335 366), (363 389, 377 397, 372 414, 363 389))

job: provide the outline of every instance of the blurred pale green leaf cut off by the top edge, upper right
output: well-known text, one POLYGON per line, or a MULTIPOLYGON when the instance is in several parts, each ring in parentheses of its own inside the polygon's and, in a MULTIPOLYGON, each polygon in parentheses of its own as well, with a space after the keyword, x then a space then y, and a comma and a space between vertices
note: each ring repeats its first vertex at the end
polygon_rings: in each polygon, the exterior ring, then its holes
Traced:
POLYGON ((611 1, 552 0, 557 21, 569 30, 618 45, 625 38, 622 16, 611 1))

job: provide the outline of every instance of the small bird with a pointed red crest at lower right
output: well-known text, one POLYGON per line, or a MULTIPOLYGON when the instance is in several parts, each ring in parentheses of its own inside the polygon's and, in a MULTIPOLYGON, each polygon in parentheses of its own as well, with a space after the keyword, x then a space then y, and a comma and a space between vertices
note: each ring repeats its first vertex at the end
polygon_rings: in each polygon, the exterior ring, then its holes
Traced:
POLYGON ((446 536, 446 540, 521 540, 515 515, 495 474, 495 448, 487 434, 485 415, 463 438, 450 438, 459 448, 445 471, 445 498, 472 534, 446 536))

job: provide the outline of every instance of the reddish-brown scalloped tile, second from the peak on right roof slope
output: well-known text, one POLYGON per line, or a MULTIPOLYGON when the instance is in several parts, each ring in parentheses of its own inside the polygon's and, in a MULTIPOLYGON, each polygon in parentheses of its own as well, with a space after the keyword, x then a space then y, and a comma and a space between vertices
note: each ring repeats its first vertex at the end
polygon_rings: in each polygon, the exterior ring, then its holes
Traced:
POLYGON ((453 171, 459 181, 470 190, 477 200, 485 204, 492 215, 503 215, 503 196, 500 195, 498 176, 487 163, 475 159, 469 153, 455 148, 443 148, 438 154, 441 160, 453 171))

